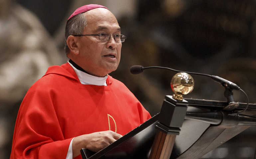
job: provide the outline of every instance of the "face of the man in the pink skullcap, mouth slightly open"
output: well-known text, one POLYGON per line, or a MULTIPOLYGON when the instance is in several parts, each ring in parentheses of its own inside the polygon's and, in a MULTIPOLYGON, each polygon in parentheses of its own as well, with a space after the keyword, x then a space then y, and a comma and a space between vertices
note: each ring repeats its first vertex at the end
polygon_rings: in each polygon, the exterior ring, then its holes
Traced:
MULTIPOLYGON (((120 26, 115 16, 105 8, 96 8, 84 13, 87 26, 83 34, 120 34, 120 26)), ((111 36, 109 41, 99 40, 99 36, 76 36, 79 48, 79 66, 89 74, 103 77, 117 69, 121 56, 121 42, 111 36)))

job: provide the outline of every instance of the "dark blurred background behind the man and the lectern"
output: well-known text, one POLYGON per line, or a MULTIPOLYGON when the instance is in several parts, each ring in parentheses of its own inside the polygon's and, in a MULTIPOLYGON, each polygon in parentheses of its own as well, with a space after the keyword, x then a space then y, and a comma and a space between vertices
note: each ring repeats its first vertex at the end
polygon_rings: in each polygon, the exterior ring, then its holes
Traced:
MULTIPOLYGON (((255 0, 0 0, 0 158, 10 157, 15 120, 29 87, 49 66, 67 62, 66 20, 86 4, 106 6, 116 16, 127 39, 110 76, 122 81, 152 116, 160 112, 165 95, 173 94, 175 73, 132 75, 133 65, 219 76, 256 102, 255 0)), ((220 84, 193 78, 194 90, 185 98, 226 101, 220 84)), ((239 91, 234 99, 246 102, 239 91)), ((203 158, 251 159, 255 147, 256 129, 250 127, 203 158)))

